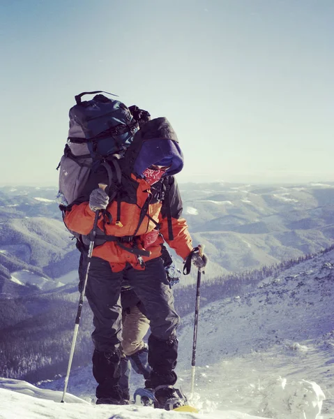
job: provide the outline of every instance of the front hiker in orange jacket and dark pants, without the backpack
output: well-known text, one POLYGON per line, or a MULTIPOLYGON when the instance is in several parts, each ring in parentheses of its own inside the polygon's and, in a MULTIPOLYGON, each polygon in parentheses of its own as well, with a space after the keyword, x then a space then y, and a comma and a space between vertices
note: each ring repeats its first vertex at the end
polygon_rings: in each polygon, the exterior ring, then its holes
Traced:
POLYGON ((165 240, 183 260, 191 257, 197 267, 206 264, 206 256, 193 251, 188 226, 181 218, 182 201, 174 175, 183 168, 183 154, 167 119, 146 122, 119 166, 121 184, 99 188, 99 184, 108 184, 109 177, 104 167, 98 168, 64 218, 70 230, 89 235, 96 212, 103 212, 86 288, 95 326, 92 338, 97 404, 122 403, 120 295, 126 277, 151 322, 152 371, 145 386, 153 390, 155 406, 163 409, 169 399, 179 397, 173 387, 177 380, 174 369, 179 316, 162 263, 162 244, 165 240))

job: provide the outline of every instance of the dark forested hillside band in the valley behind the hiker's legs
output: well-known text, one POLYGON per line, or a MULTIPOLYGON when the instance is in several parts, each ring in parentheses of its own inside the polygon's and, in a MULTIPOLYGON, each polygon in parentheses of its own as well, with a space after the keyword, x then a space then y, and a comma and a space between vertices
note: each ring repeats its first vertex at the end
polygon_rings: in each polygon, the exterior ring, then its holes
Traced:
MULTIPOLYGON (((322 253, 331 249, 333 247, 322 253)), ((262 279, 275 277, 310 258, 314 258, 314 255, 262 267, 261 270, 216 277, 212 282, 205 281, 201 287, 201 307, 225 297, 243 295, 256 287, 262 279)), ((174 287, 176 309, 181 318, 194 311, 195 293, 195 285, 174 287)), ((65 374, 78 300, 76 285, 64 286, 47 293, 38 291, 26 297, 1 300, 0 376, 22 378, 35 383, 53 378, 57 374, 65 374)), ((91 311, 85 302, 73 367, 91 362, 92 330, 91 311)))

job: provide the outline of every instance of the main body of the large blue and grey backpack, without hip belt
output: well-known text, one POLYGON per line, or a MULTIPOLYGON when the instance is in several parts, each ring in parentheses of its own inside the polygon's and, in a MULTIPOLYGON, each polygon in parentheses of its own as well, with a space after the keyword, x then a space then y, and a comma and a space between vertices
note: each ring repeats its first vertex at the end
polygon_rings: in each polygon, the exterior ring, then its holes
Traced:
MULTIPOLYGON (((133 135, 150 117, 149 112, 135 105, 128 108, 124 103, 99 93, 107 92, 88 91, 75 96, 77 104, 70 108, 68 142, 57 167, 60 169, 57 200, 61 209, 80 196, 91 170, 104 164, 107 156, 116 155, 117 159, 124 156, 133 135), (97 95, 82 102, 85 94, 97 95)), ((112 173, 107 166, 111 184, 112 173)))

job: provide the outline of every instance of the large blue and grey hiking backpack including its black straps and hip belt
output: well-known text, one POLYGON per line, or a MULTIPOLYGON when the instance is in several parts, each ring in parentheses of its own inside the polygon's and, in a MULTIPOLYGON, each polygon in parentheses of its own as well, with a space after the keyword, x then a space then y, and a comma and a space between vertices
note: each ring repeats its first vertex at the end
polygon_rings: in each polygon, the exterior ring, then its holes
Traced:
MULTIPOLYGON (((57 195, 59 208, 65 214, 66 210, 75 203, 86 186, 92 171, 104 166, 108 175, 109 200, 117 200, 118 214, 116 223, 121 222, 122 190, 127 189, 127 179, 130 177, 132 163, 139 152, 142 140, 138 138, 133 142, 134 135, 149 121, 151 115, 145 110, 132 105, 126 107, 120 101, 109 99, 102 94, 103 91, 84 92, 75 96, 77 104, 70 108, 70 129, 68 142, 61 157, 57 170, 59 170, 59 193, 57 195), (97 94, 91 101, 81 101, 85 94, 97 94), (133 142, 133 143, 132 143, 133 142), (130 147, 133 146, 133 147, 130 147), (128 153, 126 151, 129 150, 128 153)), ((105 93, 105 92, 104 92, 105 93)), ((167 178, 163 183, 163 198, 169 202, 169 184, 167 178)), ((107 214, 105 214, 107 216, 107 214)), ((144 221, 146 210, 142 208, 139 225, 144 221)), ((173 239, 172 219, 170 207, 167 214, 169 223, 169 239, 173 239)), ((139 225, 137 228, 139 228, 139 225)), ((158 223, 157 223, 158 227, 158 223)), ((85 237, 70 230, 77 240, 86 244, 85 237)), ((103 233, 101 231, 101 233, 103 233)), ((89 240, 90 237, 87 236, 89 240)), ((106 240, 114 240, 104 234, 96 234, 96 245, 106 240)), ((119 240, 119 237, 117 237, 119 240)), ((119 244, 122 246, 122 244, 119 244)), ((127 251, 128 247, 125 247, 127 251)), ((139 249, 131 252, 140 256, 147 256, 147 251, 139 249)))

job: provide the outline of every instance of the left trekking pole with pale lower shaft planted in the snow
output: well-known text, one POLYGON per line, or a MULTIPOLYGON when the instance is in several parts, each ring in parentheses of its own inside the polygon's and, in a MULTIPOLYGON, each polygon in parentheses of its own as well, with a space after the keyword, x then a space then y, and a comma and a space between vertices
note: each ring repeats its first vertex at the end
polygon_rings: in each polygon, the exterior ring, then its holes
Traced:
MULTIPOLYGON (((105 190, 105 188, 107 187, 107 185, 105 185, 105 184, 98 184, 98 186, 99 186, 100 189, 103 189, 103 190, 105 190)), ((80 317, 81 317, 81 311, 82 311, 82 306, 84 304, 84 293, 86 291, 89 268, 91 267, 91 255, 93 254, 94 242, 95 242, 95 237, 96 237, 96 227, 98 226, 98 216, 99 215, 100 215, 100 211, 96 211, 95 219, 94 219, 94 223, 93 223, 93 230, 91 232, 91 242, 89 243, 89 249, 88 249, 88 256, 87 256, 88 263, 87 263, 87 269, 86 269, 86 276, 84 278, 84 286, 82 288, 82 291, 81 291, 80 297, 79 297, 79 306, 77 307, 77 316, 75 318, 75 328, 74 328, 74 333, 73 333, 72 346, 70 348, 70 359, 68 360, 68 368, 67 368, 67 373, 66 373, 66 377, 65 377, 64 388, 63 388, 63 397, 61 398, 61 403, 64 402, 65 395, 66 395, 66 390, 67 390, 67 385, 68 385, 68 378, 70 378, 70 367, 72 366, 73 355, 74 355, 74 350, 75 350, 75 343, 77 341, 77 331, 79 330, 79 322, 80 322, 80 317)))

